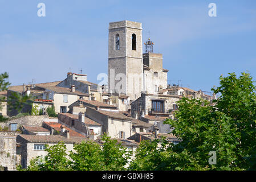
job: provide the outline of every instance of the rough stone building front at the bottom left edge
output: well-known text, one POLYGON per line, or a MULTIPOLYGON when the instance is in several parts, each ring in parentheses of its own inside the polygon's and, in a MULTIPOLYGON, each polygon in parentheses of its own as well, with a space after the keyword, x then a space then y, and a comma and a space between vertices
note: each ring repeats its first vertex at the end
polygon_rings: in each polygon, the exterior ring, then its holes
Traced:
POLYGON ((17 154, 17 131, 0 131, 0 166, 7 170, 16 170, 21 163, 19 152, 17 154))

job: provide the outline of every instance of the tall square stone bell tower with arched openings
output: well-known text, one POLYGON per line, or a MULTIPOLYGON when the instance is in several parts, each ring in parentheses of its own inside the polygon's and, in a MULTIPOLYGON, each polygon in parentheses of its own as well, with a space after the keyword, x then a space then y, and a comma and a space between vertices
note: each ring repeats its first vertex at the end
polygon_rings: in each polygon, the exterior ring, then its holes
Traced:
POLYGON ((136 100, 143 91, 143 43, 141 23, 124 20, 109 23, 109 93, 136 100))

